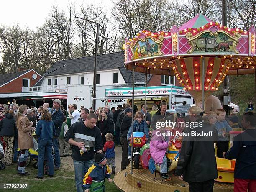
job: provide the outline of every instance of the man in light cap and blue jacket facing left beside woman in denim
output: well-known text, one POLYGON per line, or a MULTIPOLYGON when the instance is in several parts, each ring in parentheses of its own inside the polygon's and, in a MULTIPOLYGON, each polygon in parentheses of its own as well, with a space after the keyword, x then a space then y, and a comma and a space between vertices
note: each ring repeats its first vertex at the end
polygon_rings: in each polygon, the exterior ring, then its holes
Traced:
POLYGON ((55 168, 54 170, 59 170, 60 168, 60 154, 59 154, 59 144, 58 144, 58 138, 59 134, 61 132, 61 126, 64 119, 64 115, 60 109, 61 101, 59 99, 53 99, 53 107, 51 110, 51 120, 54 122, 55 130, 56 130, 56 136, 52 139, 53 142, 53 148, 54 148, 54 154, 55 154, 55 168))

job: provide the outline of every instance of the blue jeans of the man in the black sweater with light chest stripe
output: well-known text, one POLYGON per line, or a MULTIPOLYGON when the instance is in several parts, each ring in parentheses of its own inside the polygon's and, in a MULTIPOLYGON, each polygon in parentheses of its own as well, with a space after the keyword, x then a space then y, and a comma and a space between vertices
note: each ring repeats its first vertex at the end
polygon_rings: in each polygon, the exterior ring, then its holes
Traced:
POLYGON ((75 180, 77 192, 84 192, 83 179, 88 169, 93 165, 94 159, 88 161, 76 161, 73 160, 75 169, 75 180))

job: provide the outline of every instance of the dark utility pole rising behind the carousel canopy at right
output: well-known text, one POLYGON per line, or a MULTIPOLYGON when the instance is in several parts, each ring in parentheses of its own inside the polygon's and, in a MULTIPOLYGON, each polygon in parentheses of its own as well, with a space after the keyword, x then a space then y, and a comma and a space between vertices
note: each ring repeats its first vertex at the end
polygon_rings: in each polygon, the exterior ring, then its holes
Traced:
MULTIPOLYGON (((222 0, 222 26, 227 26, 227 0, 222 0)), ((223 97, 222 97, 222 104, 223 104, 223 109, 226 111, 226 114, 228 115, 229 110, 228 110, 228 104, 230 101, 229 93, 228 93, 228 84, 229 84, 229 79, 228 76, 224 78, 223 81, 223 97)))

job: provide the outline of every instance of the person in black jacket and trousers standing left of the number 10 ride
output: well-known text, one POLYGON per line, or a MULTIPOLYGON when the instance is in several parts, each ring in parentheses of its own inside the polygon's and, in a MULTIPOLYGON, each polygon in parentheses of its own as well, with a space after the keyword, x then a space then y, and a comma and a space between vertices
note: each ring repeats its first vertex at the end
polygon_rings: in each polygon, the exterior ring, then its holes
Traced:
POLYGON ((126 169, 126 166, 129 164, 128 160, 128 141, 127 141, 127 133, 132 123, 132 109, 125 109, 125 116, 121 123, 120 128, 120 142, 122 144, 122 161, 121 161, 121 170, 126 169))

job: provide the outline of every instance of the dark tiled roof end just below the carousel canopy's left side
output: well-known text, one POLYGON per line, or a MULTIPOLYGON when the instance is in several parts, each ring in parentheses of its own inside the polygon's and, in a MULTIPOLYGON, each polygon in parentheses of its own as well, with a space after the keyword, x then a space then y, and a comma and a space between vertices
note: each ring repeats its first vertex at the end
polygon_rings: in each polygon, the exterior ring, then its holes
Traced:
MULTIPOLYGON (((125 69, 124 65, 122 67, 118 67, 127 87, 132 87, 133 84, 133 72, 130 70, 125 69)), ((148 74, 147 83, 149 82, 150 78, 152 77, 151 74, 148 74)), ((134 72, 134 82, 145 82, 146 75, 144 73, 134 72)))

